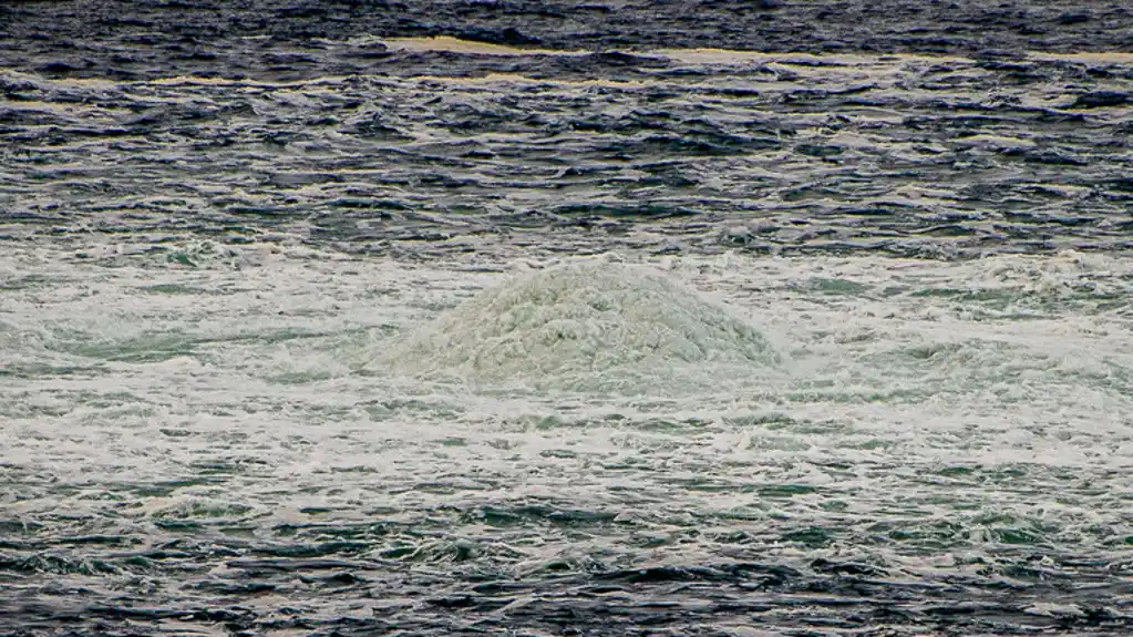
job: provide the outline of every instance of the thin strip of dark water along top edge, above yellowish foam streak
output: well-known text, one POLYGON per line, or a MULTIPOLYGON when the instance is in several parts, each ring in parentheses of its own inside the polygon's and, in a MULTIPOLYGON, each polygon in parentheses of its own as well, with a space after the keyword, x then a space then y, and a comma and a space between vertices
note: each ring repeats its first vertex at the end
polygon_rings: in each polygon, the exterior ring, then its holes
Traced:
MULTIPOLYGON (((714 46, 1010 58, 1023 51, 1128 51, 1133 42, 1130 14, 1128 3, 1121 0, 1073 5, 1033 0, 17 0, 0 5, 5 43, 0 66, 117 79, 399 73, 404 61, 383 54, 380 46, 344 50, 332 45, 358 35, 448 35, 560 50, 714 46)), ((461 73, 446 69, 452 71, 461 73)))

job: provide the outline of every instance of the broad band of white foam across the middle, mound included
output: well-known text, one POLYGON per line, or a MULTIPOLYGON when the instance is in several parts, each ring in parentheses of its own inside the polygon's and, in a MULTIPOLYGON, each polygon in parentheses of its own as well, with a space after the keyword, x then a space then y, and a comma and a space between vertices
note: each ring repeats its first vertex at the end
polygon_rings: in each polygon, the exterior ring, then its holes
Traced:
MULTIPOLYGON (((918 564, 942 521, 963 529, 947 532, 956 555, 1015 528, 1102 557, 1127 535, 1133 279, 1118 258, 631 255, 664 273, 533 263, 509 282, 516 264, 483 252, 283 246, 261 264, 189 266, 133 248, 69 256, 78 247, 0 254, 0 477, 22 485, 0 512, 51 533, 74 533, 57 511, 110 529, 270 528, 372 518, 374 503, 415 524, 453 503, 539 501, 625 512, 614 550, 689 516, 770 542, 836 518, 857 550, 885 520, 912 535, 878 554, 937 575, 918 564), (716 330, 747 317, 769 338, 716 330), (553 321, 585 338, 540 340, 553 321), (649 334, 673 345, 646 348, 649 334), (530 349, 485 358, 506 347, 530 349), (460 373, 482 387, 421 382, 375 351, 417 373, 479 362, 460 373), (807 489, 761 494, 784 484, 807 489)), ((452 533, 480 533, 462 524, 452 533)), ((533 562, 579 546, 544 540, 533 562)), ((681 546, 665 555, 718 549, 681 546)))

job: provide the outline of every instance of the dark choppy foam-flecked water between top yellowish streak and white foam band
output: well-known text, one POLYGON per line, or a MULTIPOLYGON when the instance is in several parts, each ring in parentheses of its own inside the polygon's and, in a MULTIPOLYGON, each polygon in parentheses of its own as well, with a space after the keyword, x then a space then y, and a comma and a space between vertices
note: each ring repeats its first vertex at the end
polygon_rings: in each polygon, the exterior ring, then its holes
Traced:
POLYGON ((1128 56, 590 57, 288 83, 3 70, 0 236, 279 233, 395 256, 1130 247, 1128 56))

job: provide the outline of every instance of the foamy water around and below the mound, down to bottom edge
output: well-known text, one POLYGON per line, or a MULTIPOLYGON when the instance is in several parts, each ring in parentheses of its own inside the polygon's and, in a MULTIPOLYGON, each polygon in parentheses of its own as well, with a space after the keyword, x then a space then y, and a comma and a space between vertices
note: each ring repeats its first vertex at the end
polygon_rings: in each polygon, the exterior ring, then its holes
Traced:
POLYGON ((704 363, 667 356, 620 393, 540 365, 523 391, 374 364, 479 288, 545 275, 12 252, 11 627, 1128 622, 1124 260, 646 258, 687 286, 666 303, 700 320, 696 290, 726 300, 785 359, 741 376, 723 356, 717 390, 690 391, 704 363))

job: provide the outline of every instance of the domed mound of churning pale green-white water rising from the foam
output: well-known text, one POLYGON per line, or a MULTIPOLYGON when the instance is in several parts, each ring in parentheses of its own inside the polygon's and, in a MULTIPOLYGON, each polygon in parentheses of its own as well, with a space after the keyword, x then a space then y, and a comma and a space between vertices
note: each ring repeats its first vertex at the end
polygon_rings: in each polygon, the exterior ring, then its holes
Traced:
POLYGON ((613 393, 702 388, 778 360, 764 334, 724 307, 658 271, 606 261, 483 292, 387 355, 415 374, 613 393))

